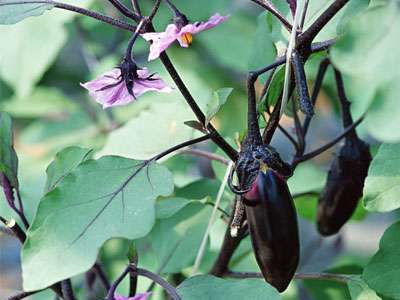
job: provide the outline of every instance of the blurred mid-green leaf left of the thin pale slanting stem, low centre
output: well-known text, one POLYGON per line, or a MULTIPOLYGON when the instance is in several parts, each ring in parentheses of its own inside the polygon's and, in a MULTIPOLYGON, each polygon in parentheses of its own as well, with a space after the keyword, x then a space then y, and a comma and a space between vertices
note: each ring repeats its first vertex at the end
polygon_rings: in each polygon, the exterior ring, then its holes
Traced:
POLYGON ((177 273, 191 266, 206 230, 212 208, 198 201, 186 202, 171 217, 158 219, 151 233, 138 243, 139 257, 151 249, 162 273, 177 273))

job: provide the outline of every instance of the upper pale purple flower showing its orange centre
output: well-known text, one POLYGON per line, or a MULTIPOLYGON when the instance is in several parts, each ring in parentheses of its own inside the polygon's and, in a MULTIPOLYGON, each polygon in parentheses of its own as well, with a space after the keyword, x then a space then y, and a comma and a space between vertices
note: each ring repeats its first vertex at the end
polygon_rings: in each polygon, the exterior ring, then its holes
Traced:
POLYGON ((176 24, 169 24, 164 32, 149 32, 142 34, 146 41, 152 41, 150 45, 149 60, 156 59, 160 53, 165 51, 173 42, 178 40, 181 47, 187 48, 192 43, 192 35, 211 29, 218 24, 224 22, 229 16, 221 16, 215 14, 211 16, 206 22, 189 23, 184 26, 177 26, 176 24))

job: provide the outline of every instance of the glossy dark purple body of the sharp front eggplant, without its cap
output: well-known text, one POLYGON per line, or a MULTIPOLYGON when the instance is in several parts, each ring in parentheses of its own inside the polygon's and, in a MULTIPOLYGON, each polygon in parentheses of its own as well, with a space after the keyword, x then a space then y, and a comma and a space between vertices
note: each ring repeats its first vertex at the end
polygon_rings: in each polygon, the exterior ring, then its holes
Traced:
MULTIPOLYGON (((252 205, 246 205, 254 254, 264 279, 283 292, 300 256, 297 215, 286 181, 272 170, 260 172, 252 205)), ((246 203, 246 202, 245 202, 246 203)))

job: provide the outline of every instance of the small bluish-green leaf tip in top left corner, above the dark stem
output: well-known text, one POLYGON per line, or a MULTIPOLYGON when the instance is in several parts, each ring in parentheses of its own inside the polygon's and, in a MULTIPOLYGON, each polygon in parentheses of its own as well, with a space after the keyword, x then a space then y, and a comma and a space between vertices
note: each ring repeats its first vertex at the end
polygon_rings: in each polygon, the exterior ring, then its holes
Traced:
POLYGON ((0 0, 0 24, 15 24, 25 18, 39 16, 54 7, 51 3, 29 2, 29 0, 0 0))

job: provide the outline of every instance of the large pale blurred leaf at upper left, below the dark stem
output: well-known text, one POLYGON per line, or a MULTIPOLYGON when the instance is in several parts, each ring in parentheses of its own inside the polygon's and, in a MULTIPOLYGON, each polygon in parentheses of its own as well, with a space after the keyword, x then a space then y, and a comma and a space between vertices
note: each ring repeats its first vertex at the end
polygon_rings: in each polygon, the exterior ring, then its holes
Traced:
MULTIPOLYGON (((86 6, 90 1, 65 2, 86 6)), ((64 24, 74 16, 71 12, 51 10, 40 18, 0 26, 0 38, 7 41, 0 43, 0 77, 15 90, 18 98, 27 97, 53 63, 67 40, 64 24)))

